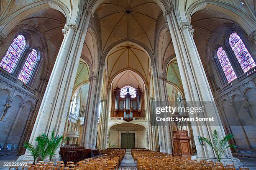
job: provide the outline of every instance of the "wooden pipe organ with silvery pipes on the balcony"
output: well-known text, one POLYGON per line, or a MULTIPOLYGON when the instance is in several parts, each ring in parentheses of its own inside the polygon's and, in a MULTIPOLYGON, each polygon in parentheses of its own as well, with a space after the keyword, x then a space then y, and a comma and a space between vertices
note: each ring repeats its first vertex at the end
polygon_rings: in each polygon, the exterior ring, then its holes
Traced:
POLYGON ((145 117, 143 102, 143 94, 139 86, 136 89, 131 86, 120 89, 117 86, 114 89, 112 105, 114 110, 111 117, 123 117, 127 122, 132 121, 133 117, 145 117))

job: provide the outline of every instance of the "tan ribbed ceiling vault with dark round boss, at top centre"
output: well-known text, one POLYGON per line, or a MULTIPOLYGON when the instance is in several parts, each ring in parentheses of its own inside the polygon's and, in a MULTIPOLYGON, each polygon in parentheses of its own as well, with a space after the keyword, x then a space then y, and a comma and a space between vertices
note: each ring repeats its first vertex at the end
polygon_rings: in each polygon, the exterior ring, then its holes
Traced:
POLYGON ((154 51, 156 20, 161 9, 152 0, 105 0, 97 8, 102 51, 120 40, 135 40, 154 51))

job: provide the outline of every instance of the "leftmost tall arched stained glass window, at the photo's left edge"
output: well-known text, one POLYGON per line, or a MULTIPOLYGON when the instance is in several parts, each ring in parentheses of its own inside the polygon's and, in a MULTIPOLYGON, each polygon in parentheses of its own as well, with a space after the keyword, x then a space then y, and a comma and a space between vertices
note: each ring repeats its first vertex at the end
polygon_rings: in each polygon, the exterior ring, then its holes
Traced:
POLYGON ((0 67, 12 73, 15 65, 18 63, 20 55, 26 46, 26 40, 23 35, 18 35, 8 48, 3 60, 0 62, 0 67))

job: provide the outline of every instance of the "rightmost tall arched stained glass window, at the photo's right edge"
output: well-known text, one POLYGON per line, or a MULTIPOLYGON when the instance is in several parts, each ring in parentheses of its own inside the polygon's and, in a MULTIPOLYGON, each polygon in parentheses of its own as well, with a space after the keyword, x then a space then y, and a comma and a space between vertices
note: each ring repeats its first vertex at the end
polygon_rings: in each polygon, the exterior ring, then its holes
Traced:
POLYGON ((236 58, 243 69, 243 72, 247 72, 252 67, 256 66, 256 63, 251 57, 250 52, 248 52, 248 49, 236 32, 230 34, 228 43, 235 53, 236 58))

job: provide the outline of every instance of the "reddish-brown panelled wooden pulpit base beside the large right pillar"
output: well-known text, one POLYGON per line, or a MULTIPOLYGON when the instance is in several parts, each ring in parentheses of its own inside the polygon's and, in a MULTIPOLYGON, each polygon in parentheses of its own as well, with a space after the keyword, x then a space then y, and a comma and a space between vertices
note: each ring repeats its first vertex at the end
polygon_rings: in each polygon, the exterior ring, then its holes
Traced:
POLYGON ((190 138, 187 130, 177 130, 172 132, 172 155, 181 156, 191 160, 190 138))

